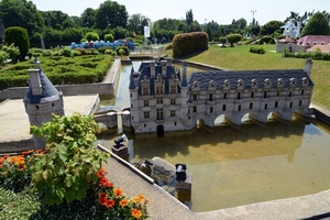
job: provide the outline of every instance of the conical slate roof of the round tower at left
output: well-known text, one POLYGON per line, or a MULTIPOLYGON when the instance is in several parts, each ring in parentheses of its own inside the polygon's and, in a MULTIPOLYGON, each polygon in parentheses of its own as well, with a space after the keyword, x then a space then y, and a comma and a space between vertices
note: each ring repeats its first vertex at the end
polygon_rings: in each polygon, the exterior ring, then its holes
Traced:
POLYGON ((40 68, 40 80, 42 85, 42 95, 33 95, 32 88, 29 86, 26 96, 24 97, 24 103, 44 103, 48 101, 55 101, 59 99, 59 92, 46 77, 43 70, 40 68))

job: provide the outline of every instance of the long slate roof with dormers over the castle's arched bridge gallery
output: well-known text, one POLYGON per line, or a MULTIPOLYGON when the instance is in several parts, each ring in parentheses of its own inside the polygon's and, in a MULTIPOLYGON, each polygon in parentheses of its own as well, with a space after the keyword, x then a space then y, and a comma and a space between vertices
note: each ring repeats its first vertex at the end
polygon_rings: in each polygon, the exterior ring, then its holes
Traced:
POLYGON ((198 81, 200 90, 208 90, 209 82, 215 81, 216 88, 223 89, 223 81, 229 80, 231 89, 235 89, 238 80, 244 80, 244 88, 251 88, 252 79, 257 80, 258 88, 264 87, 264 80, 270 79, 272 88, 277 87, 277 79, 284 79, 284 87, 289 87, 289 79, 296 78, 296 86, 301 86, 301 79, 307 77, 308 86, 314 86, 312 81, 308 77, 304 69, 276 69, 276 70, 229 70, 229 72, 197 72, 193 73, 189 78, 189 90, 193 88, 194 81, 198 81))

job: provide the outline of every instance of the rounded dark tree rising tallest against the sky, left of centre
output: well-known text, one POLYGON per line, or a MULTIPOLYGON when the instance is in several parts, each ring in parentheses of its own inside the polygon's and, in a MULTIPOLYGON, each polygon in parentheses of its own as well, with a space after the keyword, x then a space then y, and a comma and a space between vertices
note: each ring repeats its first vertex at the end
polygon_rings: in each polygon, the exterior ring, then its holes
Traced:
POLYGON ((100 30, 107 28, 114 29, 117 26, 127 28, 128 18, 129 13, 124 6, 107 0, 97 10, 95 28, 100 30))

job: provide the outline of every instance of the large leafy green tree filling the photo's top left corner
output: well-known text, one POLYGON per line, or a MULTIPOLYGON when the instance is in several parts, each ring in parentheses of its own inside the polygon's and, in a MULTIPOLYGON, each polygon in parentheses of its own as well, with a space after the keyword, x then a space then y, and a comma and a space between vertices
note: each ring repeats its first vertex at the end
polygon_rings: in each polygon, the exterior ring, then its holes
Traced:
POLYGON ((44 32, 44 19, 32 1, 1 0, 0 18, 6 28, 22 26, 26 29, 30 38, 44 32))

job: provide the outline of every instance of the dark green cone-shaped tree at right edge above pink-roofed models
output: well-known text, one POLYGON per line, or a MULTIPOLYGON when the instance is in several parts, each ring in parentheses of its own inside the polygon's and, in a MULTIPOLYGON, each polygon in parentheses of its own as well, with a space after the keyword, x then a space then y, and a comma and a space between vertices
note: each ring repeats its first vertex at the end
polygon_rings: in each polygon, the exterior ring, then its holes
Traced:
POLYGON ((316 12, 302 29, 301 37, 306 35, 330 35, 328 19, 321 12, 316 12))

